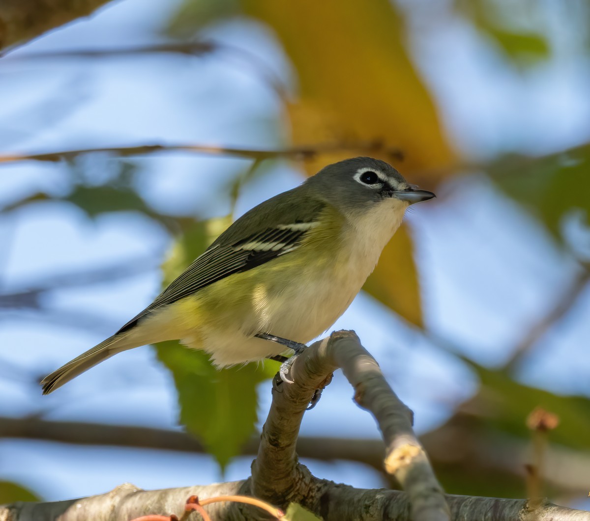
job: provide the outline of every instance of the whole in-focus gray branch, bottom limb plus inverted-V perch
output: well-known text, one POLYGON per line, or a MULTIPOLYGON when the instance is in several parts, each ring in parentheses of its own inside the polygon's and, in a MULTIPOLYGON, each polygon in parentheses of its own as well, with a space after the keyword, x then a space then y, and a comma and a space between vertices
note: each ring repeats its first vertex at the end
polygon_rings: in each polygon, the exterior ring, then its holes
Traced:
MULTIPOLYGON (((273 402, 264 424, 252 476, 241 482, 181 489, 139 490, 125 484, 107 494, 57 503, 14 503, 0 507, 0 521, 60 521, 93 519, 127 521, 160 514, 181 517, 191 495, 201 499, 249 494, 286 508, 296 502, 326 520, 585 520, 590 513, 526 500, 444 496, 424 450, 411 428, 411 413, 386 384, 375 360, 353 332, 337 332, 316 342, 294 363, 294 384, 275 380, 273 402), (299 427, 314 390, 326 385, 342 367, 355 388, 357 403, 371 411, 386 445, 384 464, 406 492, 362 490, 318 479, 299 464, 295 452, 299 427), (447 506, 448 504, 448 506, 447 506)), ((207 507, 212 519, 263 519, 250 506, 218 503, 207 507)))

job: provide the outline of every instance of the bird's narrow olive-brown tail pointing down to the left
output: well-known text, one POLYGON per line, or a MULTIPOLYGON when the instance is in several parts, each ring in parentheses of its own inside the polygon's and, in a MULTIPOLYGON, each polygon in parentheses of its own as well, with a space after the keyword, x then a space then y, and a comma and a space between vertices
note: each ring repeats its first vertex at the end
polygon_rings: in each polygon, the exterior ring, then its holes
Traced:
POLYGON ((65 383, 73 380, 79 374, 89 370, 94 365, 99 364, 103 360, 116 355, 126 349, 137 347, 136 342, 129 342, 126 338, 127 335, 113 335, 107 338, 105 341, 100 342, 99 345, 95 345, 92 349, 89 349, 79 357, 74 358, 65 365, 62 365, 58 370, 53 371, 50 375, 43 378, 41 385, 43 386, 43 394, 49 394, 51 391, 55 391, 58 387, 61 387, 65 383), (126 341, 127 340, 127 341, 126 341))

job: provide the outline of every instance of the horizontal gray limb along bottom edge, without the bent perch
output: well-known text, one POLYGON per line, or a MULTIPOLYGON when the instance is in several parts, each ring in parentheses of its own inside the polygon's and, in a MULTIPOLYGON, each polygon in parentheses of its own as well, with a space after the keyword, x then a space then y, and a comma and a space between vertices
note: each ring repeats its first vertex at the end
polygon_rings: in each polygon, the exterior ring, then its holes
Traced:
MULTIPOLYGON (((304 468, 304 467, 303 467, 304 468)), ((409 521, 408 496, 398 490, 355 489, 348 485, 314 479, 316 489, 322 493, 321 508, 316 515, 326 521, 355 519, 381 521, 395 519, 409 521)), ((226 494, 238 494, 247 488, 248 480, 216 483, 208 486, 179 489, 142 490, 130 483, 99 496, 71 499, 54 503, 17 502, 0 506, 0 521, 129 521, 155 512, 162 515, 183 513, 186 499, 196 495, 199 499, 226 494)), ((454 521, 590 521, 590 512, 573 510, 543 503, 530 509, 525 499, 498 499, 496 497, 445 496, 454 521)), ((215 503, 205 507, 214 521, 244 521, 258 519, 245 517, 240 506, 234 503, 215 503)), ((195 517, 196 519, 196 517, 195 517)))

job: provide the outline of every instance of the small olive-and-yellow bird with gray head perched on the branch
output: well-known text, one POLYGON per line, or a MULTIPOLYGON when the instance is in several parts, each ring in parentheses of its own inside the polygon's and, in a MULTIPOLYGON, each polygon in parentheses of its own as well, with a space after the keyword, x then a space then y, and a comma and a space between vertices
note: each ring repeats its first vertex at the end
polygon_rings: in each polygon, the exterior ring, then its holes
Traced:
POLYGON ((173 339, 219 368, 286 360, 286 347, 304 347, 346 311, 407 207, 432 197, 382 160, 329 164, 242 215, 112 337, 44 378, 42 393, 173 339))

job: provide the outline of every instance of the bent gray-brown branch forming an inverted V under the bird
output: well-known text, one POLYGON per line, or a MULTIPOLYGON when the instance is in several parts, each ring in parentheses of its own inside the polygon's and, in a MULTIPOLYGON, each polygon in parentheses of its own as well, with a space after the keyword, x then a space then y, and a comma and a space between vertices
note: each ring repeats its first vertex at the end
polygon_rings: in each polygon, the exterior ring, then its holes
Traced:
POLYGON ((353 386, 356 403, 377 421, 386 446, 383 464, 408 493, 412 519, 449 519, 442 487, 412 430, 412 412, 399 400, 375 358, 353 331, 333 332, 303 351, 291 366, 294 383, 282 384, 282 392, 273 393, 252 466, 254 495, 283 506, 287 498, 300 502, 301 497, 309 496, 309 481, 297 464, 297 436, 314 391, 325 387, 337 368, 342 368, 353 386))

